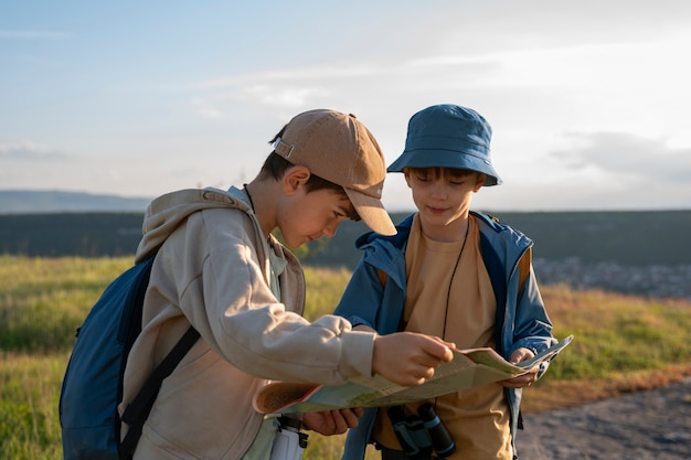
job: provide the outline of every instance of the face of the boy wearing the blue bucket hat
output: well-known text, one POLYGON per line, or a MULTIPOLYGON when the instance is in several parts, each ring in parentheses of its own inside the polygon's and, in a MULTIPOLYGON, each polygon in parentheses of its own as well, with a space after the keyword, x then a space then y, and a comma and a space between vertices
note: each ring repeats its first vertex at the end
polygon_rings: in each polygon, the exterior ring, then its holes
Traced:
POLYGON ((468 216, 472 194, 486 179, 479 172, 450 168, 406 168, 404 174, 429 236, 433 232, 456 235, 454 224, 468 216))

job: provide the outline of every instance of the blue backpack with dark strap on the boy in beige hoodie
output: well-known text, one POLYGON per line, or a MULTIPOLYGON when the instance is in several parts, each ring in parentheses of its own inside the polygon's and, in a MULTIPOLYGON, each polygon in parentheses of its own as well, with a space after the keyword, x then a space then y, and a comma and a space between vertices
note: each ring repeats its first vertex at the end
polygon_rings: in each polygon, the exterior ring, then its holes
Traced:
POLYGON ((60 395, 65 460, 131 458, 161 382, 199 338, 190 327, 120 419, 117 406, 123 399, 123 374, 129 350, 141 332, 141 307, 153 258, 115 279, 77 329, 60 395), (120 442, 121 421, 129 430, 120 442))

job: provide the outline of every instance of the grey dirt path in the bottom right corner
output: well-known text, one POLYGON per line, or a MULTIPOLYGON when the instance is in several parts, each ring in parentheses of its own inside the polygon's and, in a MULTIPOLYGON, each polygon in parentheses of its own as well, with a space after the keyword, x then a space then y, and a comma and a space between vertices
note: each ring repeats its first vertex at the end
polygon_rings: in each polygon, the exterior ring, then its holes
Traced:
POLYGON ((691 377, 580 407, 524 416, 521 460, 690 460, 691 377))

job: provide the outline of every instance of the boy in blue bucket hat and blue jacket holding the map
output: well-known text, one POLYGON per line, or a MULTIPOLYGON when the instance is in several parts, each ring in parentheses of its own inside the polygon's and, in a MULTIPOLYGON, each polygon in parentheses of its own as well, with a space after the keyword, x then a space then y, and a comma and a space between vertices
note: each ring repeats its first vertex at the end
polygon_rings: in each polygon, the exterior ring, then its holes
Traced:
MULTIPOLYGON (((405 150, 387 171, 404 173, 417 212, 394 236, 368 233, 358 239, 364 255, 337 314, 380 334, 414 331, 458 349, 491 346, 513 363, 556 342, 532 269, 532 242, 470 211, 474 193, 501 184, 490 158, 491 133, 481 115, 456 105, 432 106, 411 118, 405 150)), ((398 408, 411 420, 429 403, 451 435, 453 453, 416 439, 418 449, 406 454, 393 413, 380 408, 365 409, 350 430, 343 459, 361 460, 368 443, 381 449, 383 460, 515 459, 522 388, 545 371, 546 364, 398 408)))

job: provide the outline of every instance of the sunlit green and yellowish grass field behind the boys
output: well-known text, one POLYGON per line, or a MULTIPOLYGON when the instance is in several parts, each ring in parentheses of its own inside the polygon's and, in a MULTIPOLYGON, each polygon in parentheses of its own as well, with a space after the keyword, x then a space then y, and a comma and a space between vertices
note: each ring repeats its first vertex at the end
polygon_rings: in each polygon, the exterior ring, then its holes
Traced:
MULTIPOLYGON (((57 400, 79 325, 121 258, 0 256, 0 458, 62 459, 57 400)), ((307 313, 331 311, 347 270, 306 269, 307 313)), ((554 334, 573 344, 524 393, 525 411, 665 385, 691 373, 691 303, 543 287, 554 334)), ((310 436, 306 456, 340 458, 343 438, 310 436)))

